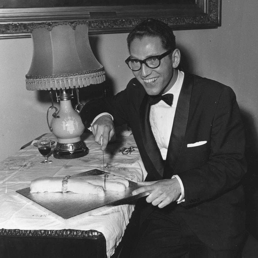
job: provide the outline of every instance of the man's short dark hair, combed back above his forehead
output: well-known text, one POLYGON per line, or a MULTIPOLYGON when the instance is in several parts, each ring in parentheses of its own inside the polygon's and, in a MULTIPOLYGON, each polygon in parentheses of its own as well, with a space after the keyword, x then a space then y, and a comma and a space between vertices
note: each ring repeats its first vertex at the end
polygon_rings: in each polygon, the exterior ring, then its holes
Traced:
POLYGON ((130 45, 134 39, 142 39, 145 36, 159 37, 165 50, 173 51, 176 48, 176 40, 172 28, 165 22, 149 18, 137 24, 129 33, 127 37, 128 50, 130 51, 130 45))

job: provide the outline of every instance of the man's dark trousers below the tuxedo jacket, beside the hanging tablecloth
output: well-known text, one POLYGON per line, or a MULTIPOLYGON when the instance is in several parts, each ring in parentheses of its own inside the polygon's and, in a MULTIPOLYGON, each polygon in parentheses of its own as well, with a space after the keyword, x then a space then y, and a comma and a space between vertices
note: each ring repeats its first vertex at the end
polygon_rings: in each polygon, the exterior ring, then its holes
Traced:
POLYGON ((239 258, 235 250, 213 250, 188 227, 177 212, 157 209, 142 224, 130 258, 239 258))

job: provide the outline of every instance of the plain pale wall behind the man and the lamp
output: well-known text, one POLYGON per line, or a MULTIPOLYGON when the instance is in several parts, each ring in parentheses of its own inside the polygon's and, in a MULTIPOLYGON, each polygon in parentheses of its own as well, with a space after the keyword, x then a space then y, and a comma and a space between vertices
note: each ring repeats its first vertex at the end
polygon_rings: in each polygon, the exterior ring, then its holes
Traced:
MULTIPOLYGON (((247 146, 258 152, 257 130, 257 0, 222 3, 222 26, 217 29, 175 31, 183 63, 190 72, 231 86, 237 96, 246 127, 247 146)), ((113 92, 133 77, 124 60, 128 57, 127 34, 90 37, 95 56, 105 66, 113 92)), ((0 40, 0 160, 30 140, 49 132, 43 92, 25 88, 25 74, 32 57, 30 38, 0 40)), ((91 97, 90 90, 83 92, 91 97)))

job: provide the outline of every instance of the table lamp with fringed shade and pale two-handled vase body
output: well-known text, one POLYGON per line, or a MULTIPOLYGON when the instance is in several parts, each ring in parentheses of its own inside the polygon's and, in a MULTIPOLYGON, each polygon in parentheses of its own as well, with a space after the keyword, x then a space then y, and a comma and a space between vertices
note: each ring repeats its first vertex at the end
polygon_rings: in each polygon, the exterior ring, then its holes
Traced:
POLYGON ((53 28, 35 28, 31 31, 33 57, 26 75, 26 89, 48 90, 52 106, 47 111, 47 123, 57 137, 53 155, 58 159, 83 157, 89 149, 81 140, 84 125, 78 106, 78 89, 105 81, 104 67, 96 60, 89 45, 88 27, 57 23, 53 28), (51 91, 55 91, 60 109, 54 107, 51 91), (76 92, 78 104, 72 107, 76 92), (58 95, 59 94, 59 95, 58 95), (54 109, 49 124, 48 113, 54 109))

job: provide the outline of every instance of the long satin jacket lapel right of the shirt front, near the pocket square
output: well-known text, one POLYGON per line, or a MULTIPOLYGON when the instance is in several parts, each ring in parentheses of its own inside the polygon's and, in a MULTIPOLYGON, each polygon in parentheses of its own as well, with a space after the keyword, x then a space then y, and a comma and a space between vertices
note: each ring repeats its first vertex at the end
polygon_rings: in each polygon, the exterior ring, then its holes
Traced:
POLYGON ((184 81, 177 101, 173 128, 169 141, 168 154, 163 178, 171 178, 177 164, 186 133, 189 116, 190 100, 192 95, 193 76, 185 72, 184 81))

